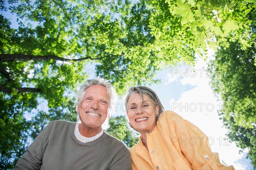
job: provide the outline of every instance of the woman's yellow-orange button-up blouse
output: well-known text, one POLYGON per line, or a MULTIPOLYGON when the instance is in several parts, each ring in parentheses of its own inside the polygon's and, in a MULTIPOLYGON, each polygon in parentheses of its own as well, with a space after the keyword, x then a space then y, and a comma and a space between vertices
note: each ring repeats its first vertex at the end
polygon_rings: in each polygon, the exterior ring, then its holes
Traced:
POLYGON ((130 148, 133 170, 234 170, 212 153, 207 136, 172 111, 163 112, 147 134, 148 150, 140 141, 130 148))

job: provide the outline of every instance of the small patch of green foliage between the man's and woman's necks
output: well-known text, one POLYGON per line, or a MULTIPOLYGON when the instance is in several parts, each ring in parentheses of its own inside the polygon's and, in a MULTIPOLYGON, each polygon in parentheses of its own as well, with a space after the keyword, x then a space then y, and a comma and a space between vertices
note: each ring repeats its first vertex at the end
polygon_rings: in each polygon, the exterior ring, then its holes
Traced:
POLYGON ((132 147, 139 142, 139 133, 132 130, 125 116, 115 116, 109 119, 107 132, 123 141, 127 147, 132 147))

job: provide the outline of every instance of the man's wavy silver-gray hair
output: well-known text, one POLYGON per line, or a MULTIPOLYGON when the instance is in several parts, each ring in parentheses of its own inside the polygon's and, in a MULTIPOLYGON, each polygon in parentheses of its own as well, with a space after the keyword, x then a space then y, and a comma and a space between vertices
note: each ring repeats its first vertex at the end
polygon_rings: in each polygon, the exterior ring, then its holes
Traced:
MULTIPOLYGON (((93 85, 102 85, 105 88, 107 88, 107 93, 110 96, 110 102, 108 106, 108 114, 111 116, 115 112, 115 105, 117 101, 117 94, 115 89, 113 88, 113 85, 108 82, 108 80, 103 79, 101 77, 95 77, 94 79, 87 79, 86 83, 84 85, 79 86, 76 91, 76 110, 81 105, 82 100, 84 99, 85 90, 93 85)), ((79 115, 77 117, 77 122, 81 123, 81 120, 79 118, 79 115)), ((108 129, 108 118, 103 123, 102 128, 103 130, 108 129)))

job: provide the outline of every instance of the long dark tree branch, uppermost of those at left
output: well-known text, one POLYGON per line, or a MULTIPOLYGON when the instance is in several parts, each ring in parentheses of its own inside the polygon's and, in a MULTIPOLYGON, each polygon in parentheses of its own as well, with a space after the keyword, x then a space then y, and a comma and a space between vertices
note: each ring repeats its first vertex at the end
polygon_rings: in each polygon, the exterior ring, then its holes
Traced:
MULTIPOLYGON (((47 55, 47 56, 35 56, 35 55, 30 55, 30 54, 0 54, 0 62, 11 62, 11 61, 29 61, 29 60, 34 60, 34 61, 43 61, 43 60, 49 60, 49 59, 54 59, 54 60, 59 60, 59 61, 83 61, 86 59, 93 59, 90 56, 80 58, 80 59, 65 59, 61 58, 55 55, 47 55)), ((101 59, 101 58, 96 58, 96 59, 101 59)), ((93 60, 96 60, 93 59, 93 60)))

